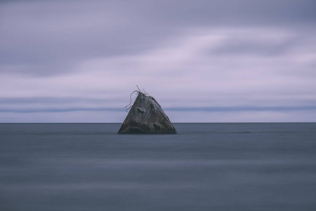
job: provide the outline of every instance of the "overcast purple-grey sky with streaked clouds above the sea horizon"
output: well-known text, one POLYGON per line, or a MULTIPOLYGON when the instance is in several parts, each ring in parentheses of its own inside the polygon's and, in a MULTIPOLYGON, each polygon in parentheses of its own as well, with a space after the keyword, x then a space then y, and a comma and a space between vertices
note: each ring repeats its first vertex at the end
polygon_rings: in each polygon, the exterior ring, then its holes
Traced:
POLYGON ((0 122, 316 122, 316 1, 0 1, 0 122), (136 95, 132 95, 132 100, 136 95))

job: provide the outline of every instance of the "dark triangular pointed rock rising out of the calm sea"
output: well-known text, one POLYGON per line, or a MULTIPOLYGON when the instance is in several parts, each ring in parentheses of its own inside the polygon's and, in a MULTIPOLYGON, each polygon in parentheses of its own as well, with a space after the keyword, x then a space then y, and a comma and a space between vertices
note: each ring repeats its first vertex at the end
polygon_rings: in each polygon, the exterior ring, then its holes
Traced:
POLYGON ((138 92, 138 96, 118 134, 177 134, 159 103, 138 92))

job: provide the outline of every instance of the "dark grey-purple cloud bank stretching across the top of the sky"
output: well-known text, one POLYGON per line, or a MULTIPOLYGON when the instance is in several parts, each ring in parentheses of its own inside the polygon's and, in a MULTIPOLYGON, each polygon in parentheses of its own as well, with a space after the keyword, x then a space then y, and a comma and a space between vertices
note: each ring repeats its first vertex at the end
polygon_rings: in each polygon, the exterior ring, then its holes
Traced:
MULTIPOLYGON (((5 1, 0 7, 0 63, 25 68, 1 70, 62 74, 86 58, 147 51, 186 27, 315 24, 312 8, 314 1, 294 0, 5 1)), ((243 47, 263 51, 251 44, 243 47)))

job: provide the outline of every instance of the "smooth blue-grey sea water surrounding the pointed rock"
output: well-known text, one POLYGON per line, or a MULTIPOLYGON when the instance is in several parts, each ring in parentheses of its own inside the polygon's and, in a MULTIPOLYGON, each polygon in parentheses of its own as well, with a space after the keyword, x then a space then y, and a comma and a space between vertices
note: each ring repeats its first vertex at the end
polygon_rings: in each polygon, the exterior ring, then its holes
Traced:
POLYGON ((0 124, 0 210, 316 210, 316 123, 0 124))

